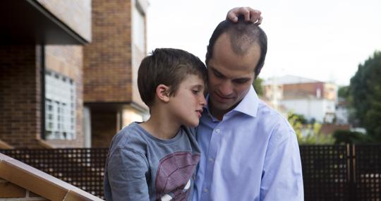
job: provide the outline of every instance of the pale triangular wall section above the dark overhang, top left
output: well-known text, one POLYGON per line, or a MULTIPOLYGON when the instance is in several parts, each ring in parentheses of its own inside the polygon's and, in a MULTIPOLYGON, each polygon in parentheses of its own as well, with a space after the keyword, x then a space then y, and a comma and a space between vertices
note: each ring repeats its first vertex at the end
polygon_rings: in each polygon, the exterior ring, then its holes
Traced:
POLYGON ((91 0, 36 0, 87 41, 91 41, 91 0))

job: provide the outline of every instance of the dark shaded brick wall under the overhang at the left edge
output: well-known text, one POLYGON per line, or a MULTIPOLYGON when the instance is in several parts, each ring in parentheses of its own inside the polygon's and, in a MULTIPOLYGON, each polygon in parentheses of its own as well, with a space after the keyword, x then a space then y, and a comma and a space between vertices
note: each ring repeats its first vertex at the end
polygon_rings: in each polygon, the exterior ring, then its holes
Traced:
POLYGON ((35 45, 0 46, 0 138, 13 147, 39 147, 38 57, 35 45))

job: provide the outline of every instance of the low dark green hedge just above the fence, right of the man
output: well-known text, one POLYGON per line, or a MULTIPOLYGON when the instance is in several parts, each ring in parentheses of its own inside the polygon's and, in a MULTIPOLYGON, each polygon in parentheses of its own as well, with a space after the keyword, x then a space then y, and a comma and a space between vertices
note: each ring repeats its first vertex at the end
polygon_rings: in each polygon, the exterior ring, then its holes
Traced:
POLYGON ((373 139, 370 135, 349 130, 336 130, 333 136, 334 144, 336 145, 375 143, 375 139, 373 139))

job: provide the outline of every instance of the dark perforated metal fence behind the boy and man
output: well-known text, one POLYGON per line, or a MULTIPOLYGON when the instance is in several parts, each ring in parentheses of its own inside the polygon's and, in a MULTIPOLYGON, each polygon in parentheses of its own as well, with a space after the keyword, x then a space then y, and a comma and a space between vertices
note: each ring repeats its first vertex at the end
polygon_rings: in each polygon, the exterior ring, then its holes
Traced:
MULTIPOLYGON (((381 145, 301 145, 305 200, 381 200, 381 145)), ((104 199, 108 148, 0 150, 104 199)))

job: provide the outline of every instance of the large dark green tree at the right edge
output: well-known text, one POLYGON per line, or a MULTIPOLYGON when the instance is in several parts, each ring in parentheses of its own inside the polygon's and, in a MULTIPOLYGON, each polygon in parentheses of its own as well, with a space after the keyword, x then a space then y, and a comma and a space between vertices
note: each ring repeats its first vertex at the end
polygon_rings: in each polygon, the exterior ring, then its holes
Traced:
POLYGON ((381 141, 381 51, 375 51, 358 65, 358 71, 351 78, 349 95, 359 126, 381 141))

